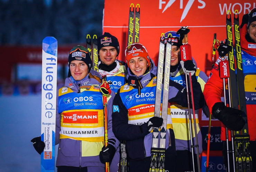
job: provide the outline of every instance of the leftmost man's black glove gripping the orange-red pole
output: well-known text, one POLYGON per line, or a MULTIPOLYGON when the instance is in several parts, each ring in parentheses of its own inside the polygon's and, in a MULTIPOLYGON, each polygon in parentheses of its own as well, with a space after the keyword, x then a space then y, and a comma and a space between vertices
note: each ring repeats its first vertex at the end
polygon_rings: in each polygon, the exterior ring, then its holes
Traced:
POLYGON ((116 153, 116 148, 112 146, 111 144, 108 144, 107 147, 103 146, 103 148, 100 151, 100 162, 111 162, 114 155, 116 153))

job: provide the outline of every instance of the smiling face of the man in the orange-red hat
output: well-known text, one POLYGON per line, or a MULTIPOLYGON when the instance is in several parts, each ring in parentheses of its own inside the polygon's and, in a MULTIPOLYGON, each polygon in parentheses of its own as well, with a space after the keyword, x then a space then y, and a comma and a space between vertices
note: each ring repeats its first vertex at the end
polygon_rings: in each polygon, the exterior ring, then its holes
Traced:
POLYGON ((148 63, 144 57, 132 57, 128 63, 131 72, 136 76, 143 75, 146 72, 148 63))

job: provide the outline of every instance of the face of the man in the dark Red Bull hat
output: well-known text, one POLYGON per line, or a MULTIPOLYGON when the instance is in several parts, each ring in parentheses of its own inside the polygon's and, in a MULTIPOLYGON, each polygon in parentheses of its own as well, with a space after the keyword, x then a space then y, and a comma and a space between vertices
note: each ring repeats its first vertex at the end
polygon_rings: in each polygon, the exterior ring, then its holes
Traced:
POLYGON ((100 61, 103 64, 111 65, 116 61, 117 49, 113 46, 102 47, 99 51, 100 61))

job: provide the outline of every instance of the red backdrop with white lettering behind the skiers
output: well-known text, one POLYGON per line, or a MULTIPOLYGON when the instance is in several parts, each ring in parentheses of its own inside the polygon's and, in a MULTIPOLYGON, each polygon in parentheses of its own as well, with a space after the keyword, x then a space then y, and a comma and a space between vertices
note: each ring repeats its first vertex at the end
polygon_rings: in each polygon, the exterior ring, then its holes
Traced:
POLYGON ((239 12, 240 23, 244 14, 256 6, 255 0, 105 0, 103 32, 115 35, 120 44, 119 59, 124 61, 127 45, 130 4, 140 4, 139 43, 145 45, 149 56, 157 63, 159 37, 167 31, 189 26, 189 44, 197 66, 209 75, 211 69, 213 34, 218 40, 226 38, 226 13, 239 12))

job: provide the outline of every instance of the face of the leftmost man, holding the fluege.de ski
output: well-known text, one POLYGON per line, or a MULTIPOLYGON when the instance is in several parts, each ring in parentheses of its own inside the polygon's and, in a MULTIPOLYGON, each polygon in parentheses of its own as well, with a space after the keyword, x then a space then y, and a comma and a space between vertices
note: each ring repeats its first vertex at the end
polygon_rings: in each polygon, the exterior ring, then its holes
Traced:
POLYGON ((88 75, 88 66, 81 60, 70 62, 70 72, 75 80, 81 80, 88 75))

